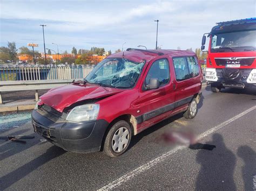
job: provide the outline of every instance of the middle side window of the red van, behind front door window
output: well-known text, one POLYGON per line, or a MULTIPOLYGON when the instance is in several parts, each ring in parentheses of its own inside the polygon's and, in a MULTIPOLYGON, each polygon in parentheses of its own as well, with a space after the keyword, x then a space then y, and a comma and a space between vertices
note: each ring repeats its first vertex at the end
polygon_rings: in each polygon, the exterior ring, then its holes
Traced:
POLYGON ((189 78, 188 67, 185 59, 185 57, 173 58, 173 65, 177 81, 182 81, 189 78))

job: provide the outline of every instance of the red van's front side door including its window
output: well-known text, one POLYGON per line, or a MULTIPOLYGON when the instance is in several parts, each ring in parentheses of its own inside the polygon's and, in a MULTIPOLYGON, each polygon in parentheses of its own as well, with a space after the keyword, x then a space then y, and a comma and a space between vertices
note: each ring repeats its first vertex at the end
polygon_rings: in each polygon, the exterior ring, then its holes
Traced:
POLYGON ((138 132, 161 120, 166 112, 172 111, 174 106, 174 92, 171 85, 170 64, 167 58, 151 63, 143 77, 143 86, 149 83, 150 78, 158 78, 160 87, 156 90, 143 90, 140 88, 137 106, 140 113, 137 117, 138 132))

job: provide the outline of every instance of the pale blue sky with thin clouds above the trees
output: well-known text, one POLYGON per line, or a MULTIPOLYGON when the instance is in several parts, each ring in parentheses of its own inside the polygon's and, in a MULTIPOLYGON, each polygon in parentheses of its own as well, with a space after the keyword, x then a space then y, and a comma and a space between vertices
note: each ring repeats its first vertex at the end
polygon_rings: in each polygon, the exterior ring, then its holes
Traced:
POLYGON ((71 52, 104 47, 114 52, 145 45, 162 49, 200 47, 203 33, 216 22, 256 17, 256 1, 0 1, 0 46, 37 43, 43 51, 43 33, 49 49, 71 52))

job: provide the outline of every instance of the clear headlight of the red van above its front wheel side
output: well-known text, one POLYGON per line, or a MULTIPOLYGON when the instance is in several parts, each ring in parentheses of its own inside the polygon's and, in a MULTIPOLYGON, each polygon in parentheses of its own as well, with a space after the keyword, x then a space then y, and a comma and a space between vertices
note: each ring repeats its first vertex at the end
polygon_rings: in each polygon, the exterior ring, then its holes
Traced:
POLYGON ((66 117, 70 122, 96 120, 99 114, 99 104, 86 104, 74 107, 66 117))

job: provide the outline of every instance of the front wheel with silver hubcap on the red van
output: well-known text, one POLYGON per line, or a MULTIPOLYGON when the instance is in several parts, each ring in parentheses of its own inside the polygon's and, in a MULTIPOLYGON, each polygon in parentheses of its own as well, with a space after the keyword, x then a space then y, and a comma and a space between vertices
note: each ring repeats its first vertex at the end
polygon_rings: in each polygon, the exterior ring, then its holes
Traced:
POLYGON ((131 126, 124 120, 117 121, 110 127, 104 142, 103 152, 107 156, 116 157, 122 155, 131 142, 131 126))

